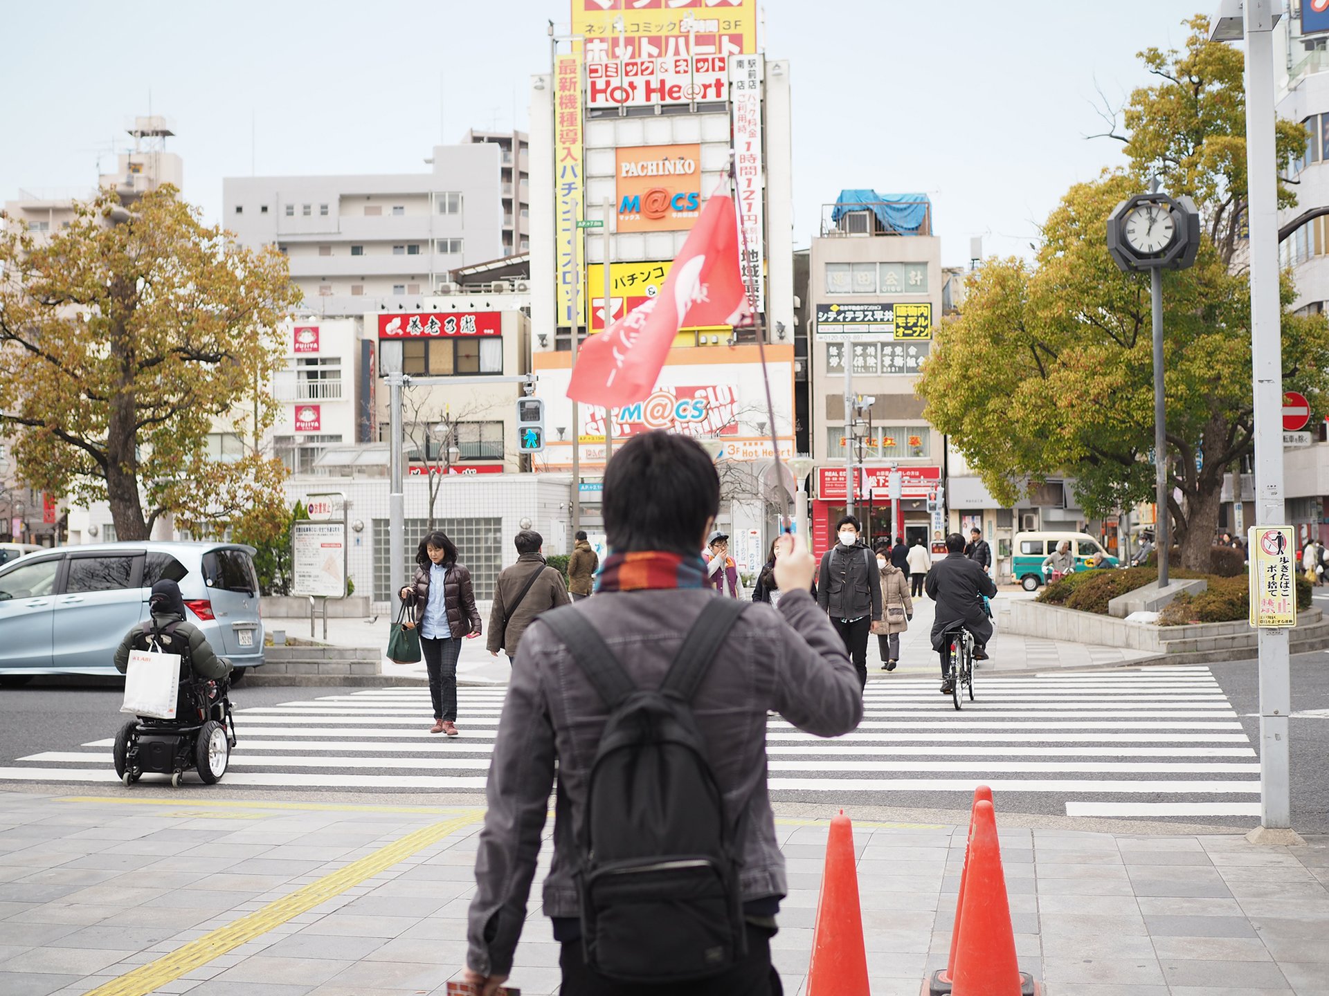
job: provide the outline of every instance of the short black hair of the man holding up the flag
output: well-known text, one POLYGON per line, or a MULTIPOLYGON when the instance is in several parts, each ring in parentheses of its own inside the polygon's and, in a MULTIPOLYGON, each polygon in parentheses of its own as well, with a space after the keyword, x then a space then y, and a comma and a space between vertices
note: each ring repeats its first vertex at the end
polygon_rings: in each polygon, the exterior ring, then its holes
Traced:
POLYGON ((615 554, 696 556, 720 510, 720 478, 700 444, 663 429, 634 436, 605 470, 601 514, 615 554))

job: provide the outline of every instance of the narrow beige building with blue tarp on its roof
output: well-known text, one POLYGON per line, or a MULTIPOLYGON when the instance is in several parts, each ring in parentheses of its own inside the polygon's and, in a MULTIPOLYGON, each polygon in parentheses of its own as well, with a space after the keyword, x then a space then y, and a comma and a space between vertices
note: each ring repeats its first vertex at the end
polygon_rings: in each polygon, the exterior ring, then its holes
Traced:
POLYGON ((945 442, 914 393, 941 320, 941 240, 932 234, 925 194, 844 190, 824 207, 805 301, 816 552, 831 544, 849 487, 870 537, 913 542, 945 529, 938 503, 945 442), (848 417, 847 393, 860 401, 848 417), (853 475, 851 453, 860 469, 853 475))

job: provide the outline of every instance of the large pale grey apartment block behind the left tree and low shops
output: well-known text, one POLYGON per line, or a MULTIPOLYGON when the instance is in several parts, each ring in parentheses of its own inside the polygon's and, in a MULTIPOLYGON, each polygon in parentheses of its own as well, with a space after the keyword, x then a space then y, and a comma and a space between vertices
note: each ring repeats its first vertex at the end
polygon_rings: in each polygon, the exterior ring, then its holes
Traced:
POLYGON ((435 146, 429 173, 229 177, 222 223, 246 246, 278 246, 316 315, 419 312, 452 270, 529 238, 526 137, 466 138, 435 146))

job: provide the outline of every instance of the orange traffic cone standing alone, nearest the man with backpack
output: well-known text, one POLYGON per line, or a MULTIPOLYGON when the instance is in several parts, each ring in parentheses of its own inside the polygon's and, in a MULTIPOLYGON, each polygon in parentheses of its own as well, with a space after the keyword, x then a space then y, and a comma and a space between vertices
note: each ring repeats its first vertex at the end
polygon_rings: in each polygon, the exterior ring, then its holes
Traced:
POLYGON ((807 996, 868 996, 868 954, 863 944, 853 827, 844 810, 831 821, 827 839, 807 996))

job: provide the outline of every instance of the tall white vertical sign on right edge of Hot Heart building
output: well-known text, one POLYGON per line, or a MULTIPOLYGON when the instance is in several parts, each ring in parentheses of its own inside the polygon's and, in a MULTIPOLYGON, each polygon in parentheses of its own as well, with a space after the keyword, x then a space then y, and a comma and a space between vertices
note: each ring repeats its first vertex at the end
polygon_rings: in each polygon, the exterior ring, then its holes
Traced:
POLYGON ((739 272, 754 311, 766 311, 762 206, 762 56, 730 58, 730 106, 734 112, 734 179, 739 214, 739 272))

